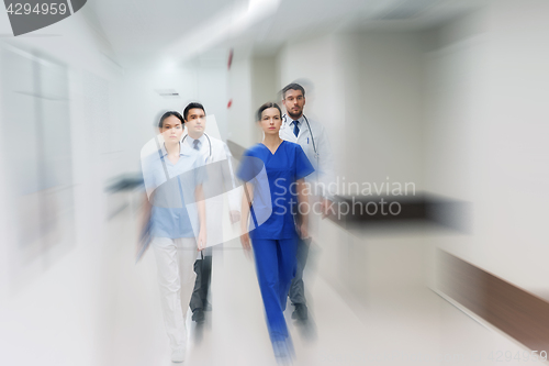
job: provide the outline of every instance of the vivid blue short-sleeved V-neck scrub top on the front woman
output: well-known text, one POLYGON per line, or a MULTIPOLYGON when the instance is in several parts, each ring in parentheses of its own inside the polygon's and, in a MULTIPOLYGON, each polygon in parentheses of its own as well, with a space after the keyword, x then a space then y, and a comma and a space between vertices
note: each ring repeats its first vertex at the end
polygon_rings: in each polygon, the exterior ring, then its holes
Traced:
POLYGON ((295 181, 314 171, 299 144, 282 141, 272 154, 264 144, 244 153, 238 178, 254 185, 250 239, 296 236, 292 206, 298 202, 295 181))

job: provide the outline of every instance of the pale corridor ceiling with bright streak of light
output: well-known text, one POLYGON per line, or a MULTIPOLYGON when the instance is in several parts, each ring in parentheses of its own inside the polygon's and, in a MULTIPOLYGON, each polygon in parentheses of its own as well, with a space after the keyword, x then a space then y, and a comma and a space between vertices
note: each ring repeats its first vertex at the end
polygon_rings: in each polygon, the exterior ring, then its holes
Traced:
POLYGON ((337 30, 422 29, 478 0, 94 0, 88 21, 131 68, 177 64, 235 45, 259 53, 337 30))

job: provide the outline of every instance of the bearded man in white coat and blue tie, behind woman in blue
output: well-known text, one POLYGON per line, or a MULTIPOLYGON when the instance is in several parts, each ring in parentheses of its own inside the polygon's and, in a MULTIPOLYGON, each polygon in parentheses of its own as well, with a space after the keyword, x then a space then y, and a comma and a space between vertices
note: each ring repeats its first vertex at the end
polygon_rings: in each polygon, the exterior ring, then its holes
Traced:
MULTIPOLYGON (((309 120, 303 113, 305 107, 305 89, 299 84, 290 84, 282 89, 282 104, 285 108, 285 114, 282 119, 280 137, 301 145, 309 160, 313 164, 315 173, 305 177, 305 181, 312 187, 316 202, 310 202, 311 212, 309 215, 310 230, 313 239, 318 226, 318 215, 314 214, 314 207, 321 207, 322 217, 327 213, 332 203, 334 192, 328 191, 333 188, 334 181, 333 162, 334 157, 329 147, 327 134, 316 121, 309 120)), ((298 215, 299 218, 299 215, 298 215)), ((290 288, 290 300, 295 307, 292 318, 300 321, 307 320, 307 308, 305 300, 305 289, 303 284, 303 269, 309 256, 309 243, 311 241, 300 240, 298 244, 298 270, 290 288)))

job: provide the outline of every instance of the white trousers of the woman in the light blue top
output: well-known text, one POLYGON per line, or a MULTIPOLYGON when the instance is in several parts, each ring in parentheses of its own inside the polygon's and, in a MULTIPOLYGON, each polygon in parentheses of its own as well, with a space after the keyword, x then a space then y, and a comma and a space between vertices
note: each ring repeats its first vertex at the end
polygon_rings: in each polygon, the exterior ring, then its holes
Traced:
POLYGON ((194 237, 155 237, 152 246, 158 268, 160 304, 170 347, 184 350, 184 321, 197 278, 193 267, 198 254, 197 241, 194 237))

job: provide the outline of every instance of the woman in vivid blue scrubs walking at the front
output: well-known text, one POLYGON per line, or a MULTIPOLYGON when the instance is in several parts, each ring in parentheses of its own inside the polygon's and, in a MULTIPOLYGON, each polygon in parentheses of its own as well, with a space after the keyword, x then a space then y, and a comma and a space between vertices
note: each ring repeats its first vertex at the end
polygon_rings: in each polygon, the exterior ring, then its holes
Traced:
POLYGON ((299 144, 279 137, 281 117, 276 103, 265 103, 257 112, 265 137, 246 151, 238 171, 238 177, 246 182, 242 207, 246 219, 242 220, 240 241, 243 247, 249 249, 251 239, 274 355, 281 363, 290 363, 293 347, 283 311, 295 276, 298 235, 307 237, 304 177, 314 169, 299 144), (301 217, 298 228, 292 214, 295 209, 301 217))

